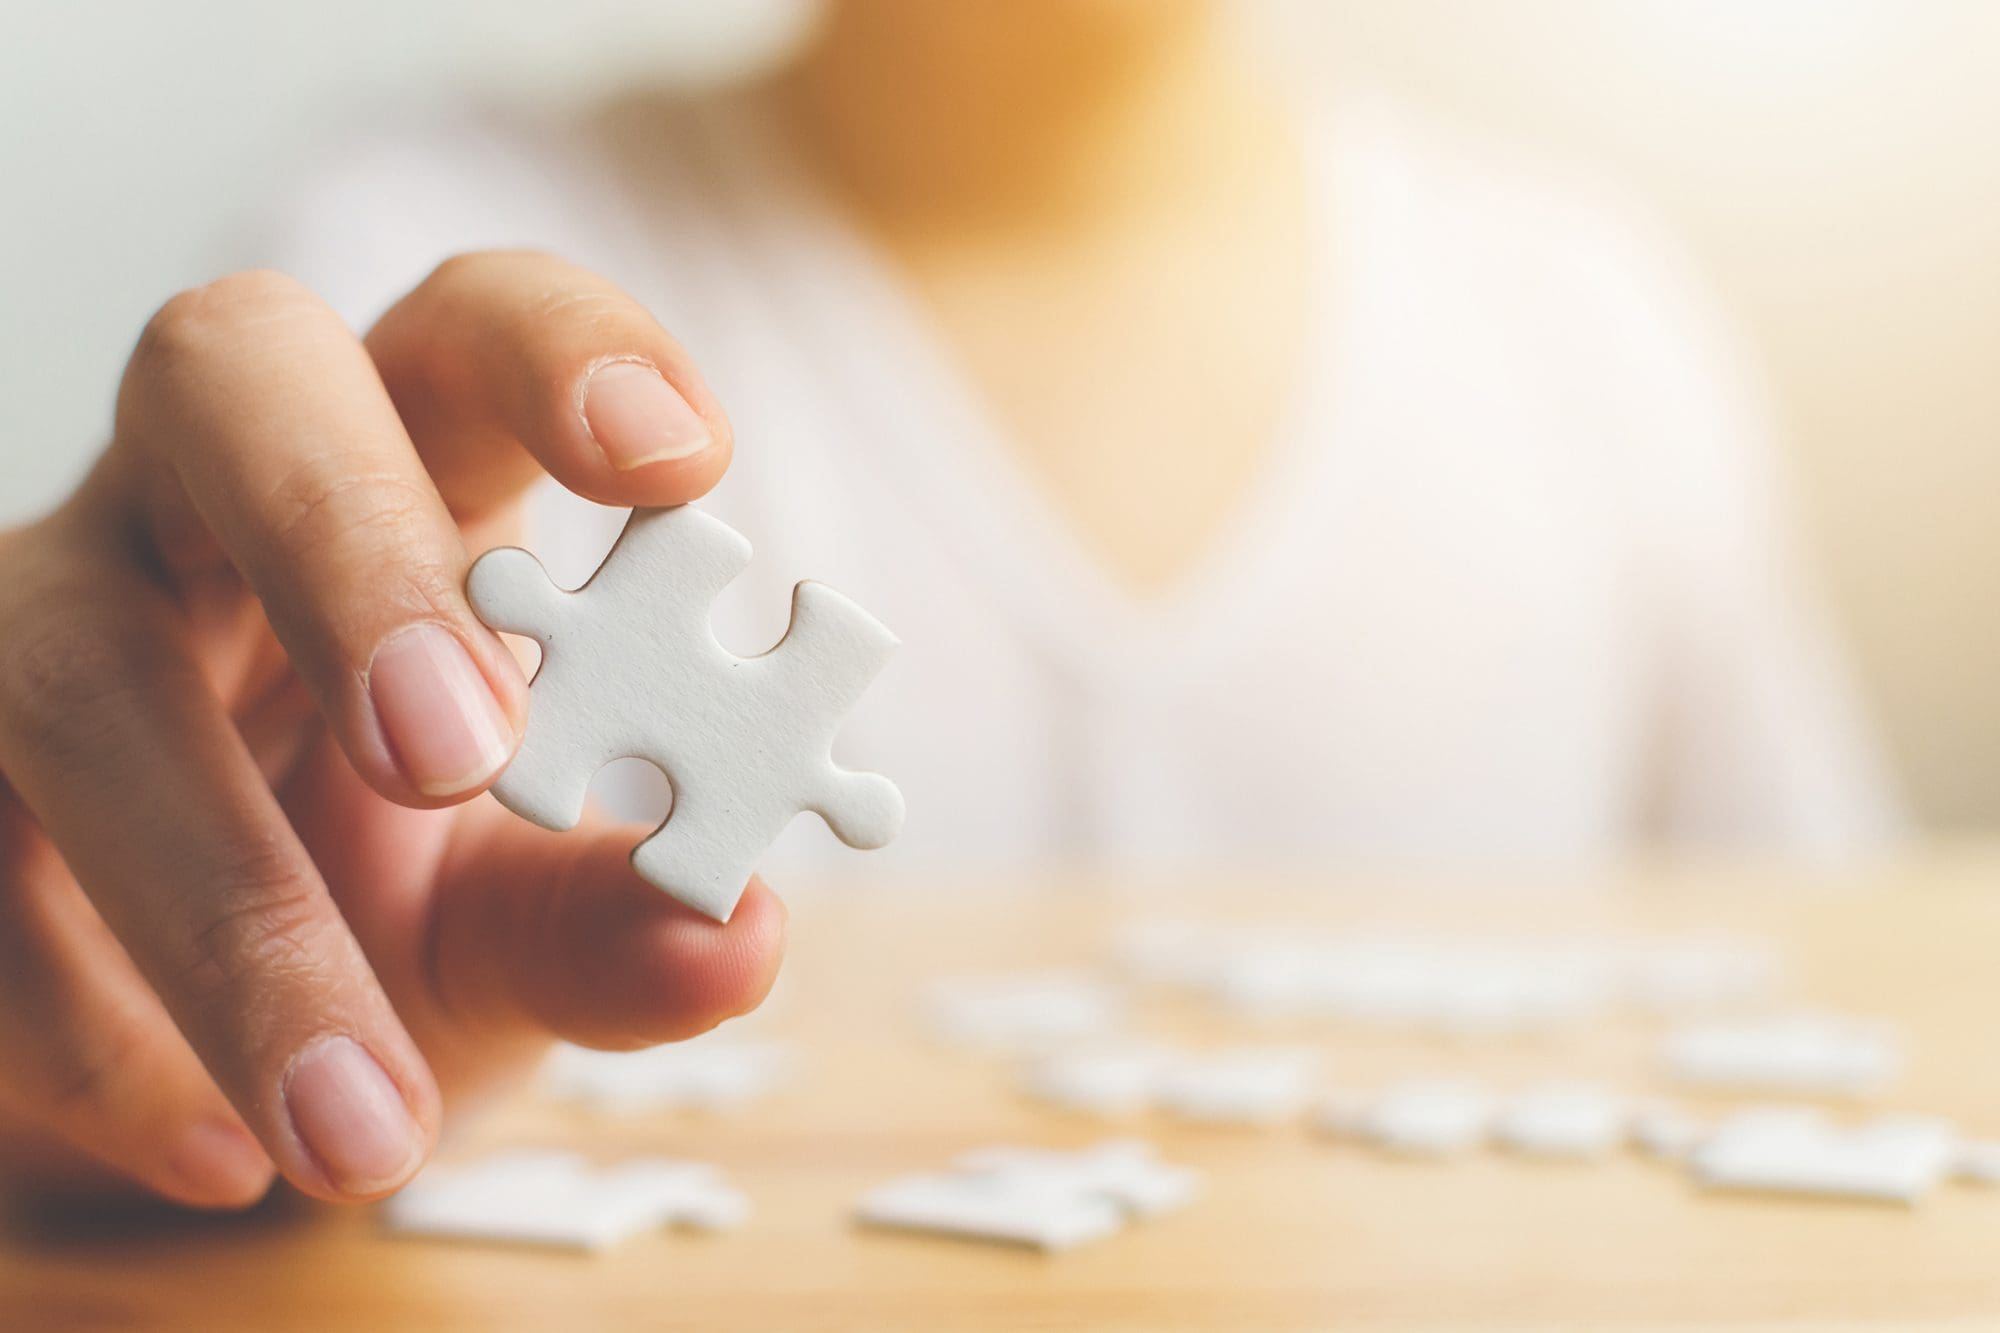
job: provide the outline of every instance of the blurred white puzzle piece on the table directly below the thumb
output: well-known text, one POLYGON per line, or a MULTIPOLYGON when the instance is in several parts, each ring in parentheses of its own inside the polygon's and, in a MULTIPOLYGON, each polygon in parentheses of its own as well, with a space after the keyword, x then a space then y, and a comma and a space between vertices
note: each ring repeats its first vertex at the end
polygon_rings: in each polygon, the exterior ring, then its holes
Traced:
POLYGON ((792 1049, 782 1041, 708 1035, 646 1051, 558 1045, 542 1065, 542 1087, 552 1101, 624 1115, 722 1111, 766 1097, 792 1067, 792 1049))

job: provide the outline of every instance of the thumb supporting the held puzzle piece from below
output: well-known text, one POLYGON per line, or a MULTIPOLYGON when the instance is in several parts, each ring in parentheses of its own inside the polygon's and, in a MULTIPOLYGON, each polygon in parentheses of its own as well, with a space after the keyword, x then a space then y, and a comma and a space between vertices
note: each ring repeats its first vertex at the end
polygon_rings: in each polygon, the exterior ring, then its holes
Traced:
POLYGON ((784 905, 752 879, 726 925, 632 871, 646 829, 548 833, 492 821, 452 857, 434 907, 432 983, 454 1015, 628 1049, 678 1041, 762 1003, 784 905))

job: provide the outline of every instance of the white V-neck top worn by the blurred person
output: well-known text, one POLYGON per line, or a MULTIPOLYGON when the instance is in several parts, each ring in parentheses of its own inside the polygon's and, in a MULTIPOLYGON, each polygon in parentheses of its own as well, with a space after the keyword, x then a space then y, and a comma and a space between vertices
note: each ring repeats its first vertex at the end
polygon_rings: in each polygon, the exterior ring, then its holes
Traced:
MULTIPOLYGON (((902 839, 862 861, 800 819, 774 869, 1878 845, 1894 807, 1690 276, 1566 182, 1386 108, 1306 140, 1308 374, 1220 544, 1154 600, 1092 562, 748 104, 690 108, 644 206, 566 132, 376 136, 258 258, 366 324, 446 254, 540 246, 682 338, 738 434, 708 508, 756 546, 722 640, 774 642, 808 576, 904 640, 836 749, 902 785, 902 839)), ((618 514, 546 500, 538 546, 578 582, 618 514)))

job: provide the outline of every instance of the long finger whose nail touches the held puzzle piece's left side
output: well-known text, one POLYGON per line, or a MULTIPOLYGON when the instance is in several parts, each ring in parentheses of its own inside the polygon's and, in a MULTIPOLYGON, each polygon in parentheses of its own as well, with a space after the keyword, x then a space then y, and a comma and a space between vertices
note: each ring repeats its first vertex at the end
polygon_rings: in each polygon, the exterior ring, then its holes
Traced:
POLYGON ((184 490, 376 791, 444 805, 506 765, 526 681, 466 604, 464 540, 374 362, 316 296, 236 274, 170 300, 118 444, 184 490))

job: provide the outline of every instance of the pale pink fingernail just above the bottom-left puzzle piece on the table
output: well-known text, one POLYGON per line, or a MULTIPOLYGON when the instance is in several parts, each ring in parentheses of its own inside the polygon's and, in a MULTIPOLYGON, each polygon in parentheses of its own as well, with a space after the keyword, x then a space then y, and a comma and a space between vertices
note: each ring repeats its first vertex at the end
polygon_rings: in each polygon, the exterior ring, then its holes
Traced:
POLYGON ((372 1195, 400 1183, 424 1151, 402 1093, 350 1037, 326 1037, 292 1061, 284 1109, 342 1193, 372 1195))

